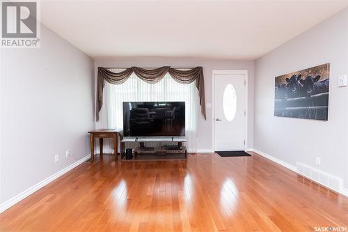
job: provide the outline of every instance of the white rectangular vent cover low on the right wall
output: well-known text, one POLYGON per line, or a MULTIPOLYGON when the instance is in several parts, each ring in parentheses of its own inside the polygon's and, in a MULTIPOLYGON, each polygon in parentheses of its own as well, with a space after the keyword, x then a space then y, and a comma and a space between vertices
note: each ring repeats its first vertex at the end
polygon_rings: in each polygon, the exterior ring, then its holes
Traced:
POLYGON ((336 192, 341 192, 342 190, 342 179, 338 178, 337 176, 332 176, 329 173, 325 173, 324 171, 320 171, 299 162, 296 163, 296 171, 302 176, 306 176, 307 178, 329 187, 336 192))

